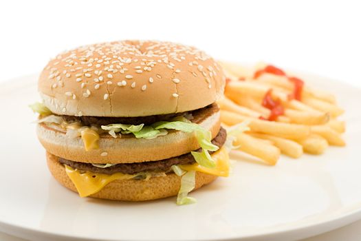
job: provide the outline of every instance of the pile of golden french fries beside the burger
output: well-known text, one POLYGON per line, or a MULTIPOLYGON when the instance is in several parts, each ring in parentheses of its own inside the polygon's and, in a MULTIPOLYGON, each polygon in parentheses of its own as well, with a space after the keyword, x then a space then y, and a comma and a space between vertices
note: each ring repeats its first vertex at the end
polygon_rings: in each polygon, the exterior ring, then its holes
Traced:
POLYGON ((239 134, 234 142, 239 150, 276 165, 281 154, 299 158, 304 152, 318 155, 329 145, 345 145, 341 136, 345 123, 337 119, 344 110, 333 94, 315 90, 303 79, 300 101, 290 99, 294 85, 286 76, 265 73, 254 79, 254 72, 265 67, 263 63, 252 68, 221 65, 228 76, 225 96, 218 102, 223 125, 249 121, 250 131, 239 134), (262 105, 270 89, 272 98, 281 101, 284 108, 276 121, 267 121, 270 109, 262 105))

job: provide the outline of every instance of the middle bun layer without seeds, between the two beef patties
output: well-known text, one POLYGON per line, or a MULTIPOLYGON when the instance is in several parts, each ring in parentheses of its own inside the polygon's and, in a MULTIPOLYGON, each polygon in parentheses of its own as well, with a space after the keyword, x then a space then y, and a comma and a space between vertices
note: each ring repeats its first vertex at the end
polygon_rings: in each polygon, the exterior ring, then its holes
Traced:
MULTIPOLYGON (((197 124, 209 130, 212 138, 217 136, 221 125, 219 109, 215 109, 215 112, 202 109, 194 116, 201 119, 197 124)), ((85 151, 80 137, 69 138, 65 132, 45 123, 38 124, 37 134, 43 147, 51 154, 81 163, 141 163, 180 156, 199 148, 194 132, 173 131, 150 140, 133 136, 113 138, 106 134, 98 141, 100 148, 89 151, 85 151)))

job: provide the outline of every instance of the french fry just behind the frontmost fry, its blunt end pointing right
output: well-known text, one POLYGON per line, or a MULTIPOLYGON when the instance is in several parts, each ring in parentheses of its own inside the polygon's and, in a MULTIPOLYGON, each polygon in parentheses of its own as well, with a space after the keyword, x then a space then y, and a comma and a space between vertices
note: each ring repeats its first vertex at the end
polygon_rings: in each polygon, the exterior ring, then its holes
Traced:
POLYGON ((281 153, 290 156, 292 158, 299 158, 303 154, 302 145, 296 143, 294 140, 287 140, 285 138, 270 136, 267 134, 253 133, 252 136, 256 138, 263 138, 266 140, 272 140, 273 145, 281 150, 281 153))

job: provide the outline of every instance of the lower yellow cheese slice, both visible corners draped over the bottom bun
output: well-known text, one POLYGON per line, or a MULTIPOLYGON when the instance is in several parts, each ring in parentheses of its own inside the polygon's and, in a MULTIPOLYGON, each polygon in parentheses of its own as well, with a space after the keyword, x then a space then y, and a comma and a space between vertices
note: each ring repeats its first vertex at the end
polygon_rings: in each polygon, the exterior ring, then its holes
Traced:
MULTIPOLYGON (((179 165, 179 167, 185 171, 200 171, 215 176, 228 176, 230 174, 230 161, 226 148, 222 147, 219 149, 219 151, 212 154, 212 158, 216 162, 214 169, 201 167, 198 163, 193 165, 179 165)), ((138 174, 129 175, 121 173, 111 175, 95 174, 91 171, 80 173, 77 169, 72 169, 72 167, 67 165, 65 165, 65 171, 78 190, 79 196, 82 198, 97 193, 113 180, 127 180, 138 176, 138 174)))

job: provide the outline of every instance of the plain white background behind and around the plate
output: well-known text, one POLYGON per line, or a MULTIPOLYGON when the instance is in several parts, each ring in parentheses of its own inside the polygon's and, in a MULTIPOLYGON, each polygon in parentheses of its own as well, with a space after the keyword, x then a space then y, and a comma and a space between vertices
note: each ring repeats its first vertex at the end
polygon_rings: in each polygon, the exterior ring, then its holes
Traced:
MULTIPOLYGON (((359 1, 1 1, 0 81, 78 45, 158 39, 361 86, 360 10, 359 1)), ((359 240, 360 227, 311 240, 359 240)))

